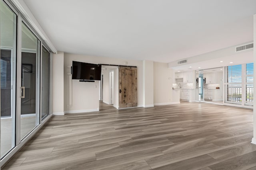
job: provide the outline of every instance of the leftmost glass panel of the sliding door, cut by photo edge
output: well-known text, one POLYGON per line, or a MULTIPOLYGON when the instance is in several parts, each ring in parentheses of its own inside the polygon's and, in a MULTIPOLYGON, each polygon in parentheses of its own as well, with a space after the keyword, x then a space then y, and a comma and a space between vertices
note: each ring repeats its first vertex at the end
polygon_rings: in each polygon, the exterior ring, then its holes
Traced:
POLYGON ((1 158, 15 147, 17 15, 0 0, 1 158))

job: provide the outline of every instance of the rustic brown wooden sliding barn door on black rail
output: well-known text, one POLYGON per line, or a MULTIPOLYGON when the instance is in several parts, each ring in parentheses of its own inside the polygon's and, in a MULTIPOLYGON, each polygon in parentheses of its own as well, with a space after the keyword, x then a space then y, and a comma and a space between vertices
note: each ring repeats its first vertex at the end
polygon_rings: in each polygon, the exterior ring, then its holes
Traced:
POLYGON ((119 108, 137 106, 137 68, 119 66, 119 108))

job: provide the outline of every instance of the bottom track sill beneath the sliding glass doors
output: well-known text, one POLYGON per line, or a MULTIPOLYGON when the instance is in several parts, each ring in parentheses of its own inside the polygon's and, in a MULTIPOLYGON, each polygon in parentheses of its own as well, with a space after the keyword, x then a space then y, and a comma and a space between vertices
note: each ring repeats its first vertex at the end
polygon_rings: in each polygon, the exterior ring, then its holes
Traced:
POLYGON ((12 158, 12 156, 16 154, 16 152, 18 152, 18 150, 20 150, 33 137, 51 117, 51 114, 46 117, 40 125, 38 125, 32 132, 28 134, 28 136, 26 136, 20 143, 18 143, 16 147, 14 147, 8 154, 6 154, 6 156, 1 159, 0 167, 6 164, 6 162, 10 160, 10 158, 12 158))

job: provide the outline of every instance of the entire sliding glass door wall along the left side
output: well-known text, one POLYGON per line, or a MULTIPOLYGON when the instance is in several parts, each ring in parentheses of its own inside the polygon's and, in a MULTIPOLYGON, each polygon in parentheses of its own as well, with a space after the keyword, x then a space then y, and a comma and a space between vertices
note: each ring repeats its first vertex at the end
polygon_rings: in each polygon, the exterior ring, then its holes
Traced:
POLYGON ((2 163, 50 115, 51 53, 10 2, 0 3, 2 163))

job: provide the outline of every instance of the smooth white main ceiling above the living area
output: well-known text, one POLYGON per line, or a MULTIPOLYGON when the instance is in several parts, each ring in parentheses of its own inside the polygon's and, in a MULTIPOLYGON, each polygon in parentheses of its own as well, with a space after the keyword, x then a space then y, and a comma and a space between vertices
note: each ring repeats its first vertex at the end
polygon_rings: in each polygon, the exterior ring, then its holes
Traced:
POLYGON ((58 51, 163 63, 253 41, 256 0, 24 0, 58 51))

